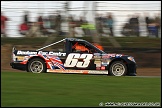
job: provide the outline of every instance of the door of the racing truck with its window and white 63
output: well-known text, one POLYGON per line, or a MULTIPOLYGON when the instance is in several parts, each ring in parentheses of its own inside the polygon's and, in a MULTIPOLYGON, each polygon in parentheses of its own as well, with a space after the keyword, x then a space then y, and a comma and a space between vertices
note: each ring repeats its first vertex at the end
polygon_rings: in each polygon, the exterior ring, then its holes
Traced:
POLYGON ((66 69, 95 70, 94 50, 84 41, 72 41, 71 52, 64 62, 66 69))

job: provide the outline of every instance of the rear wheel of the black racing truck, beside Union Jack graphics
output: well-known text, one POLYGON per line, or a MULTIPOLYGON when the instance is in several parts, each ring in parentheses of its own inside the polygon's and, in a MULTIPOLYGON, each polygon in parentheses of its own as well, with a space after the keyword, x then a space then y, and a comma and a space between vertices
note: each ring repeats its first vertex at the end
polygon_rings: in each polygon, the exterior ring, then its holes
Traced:
POLYGON ((34 58, 29 61, 27 70, 33 73, 43 73, 46 72, 46 64, 40 58, 34 58))

